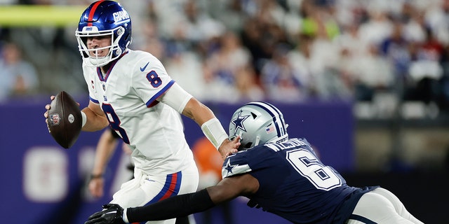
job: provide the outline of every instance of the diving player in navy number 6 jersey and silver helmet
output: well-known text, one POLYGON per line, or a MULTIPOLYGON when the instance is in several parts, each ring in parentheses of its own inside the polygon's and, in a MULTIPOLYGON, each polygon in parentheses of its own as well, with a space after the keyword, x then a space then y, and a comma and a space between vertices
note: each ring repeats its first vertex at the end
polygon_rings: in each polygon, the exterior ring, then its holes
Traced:
POLYGON ((220 183, 145 207, 106 204, 86 224, 185 216, 238 196, 248 197, 248 206, 292 223, 422 223, 389 190, 347 186, 335 169, 323 165, 306 139, 289 139, 287 126, 272 104, 245 104, 229 124, 229 133, 241 137, 241 146, 223 163, 220 183))

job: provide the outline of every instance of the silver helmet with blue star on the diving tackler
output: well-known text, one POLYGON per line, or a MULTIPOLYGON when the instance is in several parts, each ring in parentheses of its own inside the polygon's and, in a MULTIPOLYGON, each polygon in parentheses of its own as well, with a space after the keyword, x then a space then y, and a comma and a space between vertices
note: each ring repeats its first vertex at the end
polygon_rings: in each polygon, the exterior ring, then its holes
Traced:
POLYGON ((239 151, 268 142, 288 139, 286 121, 279 109, 266 102, 250 102, 241 106, 232 115, 229 137, 241 137, 239 151))

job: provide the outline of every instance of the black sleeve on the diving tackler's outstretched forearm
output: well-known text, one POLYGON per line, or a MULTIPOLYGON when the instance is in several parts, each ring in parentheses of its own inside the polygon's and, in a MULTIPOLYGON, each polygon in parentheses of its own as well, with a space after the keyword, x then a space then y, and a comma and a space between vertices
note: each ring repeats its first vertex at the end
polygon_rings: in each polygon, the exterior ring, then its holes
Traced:
POLYGON ((169 197, 145 207, 128 208, 126 216, 129 223, 160 221, 206 211, 214 206, 208 191, 203 189, 196 193, 169 197))

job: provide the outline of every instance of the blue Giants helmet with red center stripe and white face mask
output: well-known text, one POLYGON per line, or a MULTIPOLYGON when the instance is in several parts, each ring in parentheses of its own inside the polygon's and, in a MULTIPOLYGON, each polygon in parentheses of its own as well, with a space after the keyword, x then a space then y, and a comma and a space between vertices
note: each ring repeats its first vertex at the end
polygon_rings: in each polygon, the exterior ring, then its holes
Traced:
POLYGON ((115 1, 95 1, 84 10, 75 32, 79 52, 88 66, 104 66, 126 52, 132 41, 131 19, 126 10, 115 1), (92 36, 111 36, 111 45, 88 49, 86 41, 92 36), (98 57, 98 50, 109 50, 98 57))

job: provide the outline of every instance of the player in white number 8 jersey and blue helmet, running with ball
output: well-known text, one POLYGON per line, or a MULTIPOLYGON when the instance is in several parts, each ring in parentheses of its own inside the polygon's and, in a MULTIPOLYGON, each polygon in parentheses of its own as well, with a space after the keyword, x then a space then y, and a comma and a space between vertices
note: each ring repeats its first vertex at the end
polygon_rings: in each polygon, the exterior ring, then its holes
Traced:
POLYGON ((199 173, 180 113, 201 126, 222 158, 237 151, 239 139, 230 141, 213 112, 177 85, 159 59, 128 48, 131 20, 119 3, 96 1, 88 6, 76 39, 90 98, 81 110, 82 130, 109 125, 132 150, 135 178, 123 183, 112 203, 136 207, 196 191, 199 173))

